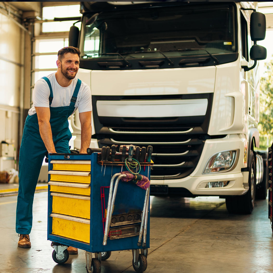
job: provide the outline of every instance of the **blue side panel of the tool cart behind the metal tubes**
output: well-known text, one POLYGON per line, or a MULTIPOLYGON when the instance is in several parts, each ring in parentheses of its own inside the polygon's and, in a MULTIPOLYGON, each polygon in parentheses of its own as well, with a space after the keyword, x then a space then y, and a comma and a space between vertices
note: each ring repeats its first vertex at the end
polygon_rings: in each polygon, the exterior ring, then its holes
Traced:
MULTIPOLYGON (((90 216, 90 224, 93 224, 92 234, 90 232, 90 242, 92 242, 92 252, 101 252, 101 251, 115 251, 115 250, 128 250, 128 249, 138 249, 142 248, 137 245, 138 235, 119 238, 119 239, 109 239, 107 240, 106 246, 102 245, 103 242, 103 223, 102 223, 102 201, 100 196, 100 187, 109 186, 111 177, 115 173, 120 171, 126 171, 125 166, 111 166, 111 165, 100 165, 97 164, 97 153, 93 153, 93 162, 94 164, 91 169, 91 203, 93 203, 92 215, 90 216)), ((144 171, 142 168, 141 174, 148 176, 148 167, 144 171)), ((107 208, 108 203, 108 194, 109 188, 105 188, 105 207, 107 208)), ((143 210, 145 198, 145 190, 136 186, 132 182, 122 182, 121 180, 118 183, 117 195, 115 198, 115 205, 113 215, 122 214, 122 213, 136 213, 141 214, 143 210)), ((146 247, 149 248, 149 229, 150 221, 148 215, 148 224, 147 224, 147 241, 146 247)), ((140 225, 140 222, 138 223, 140 225)), ((128 228, 130 225, 127 225, 128 228)), ((111 227, 114 230, 118 230, 118 227, 111 227)))

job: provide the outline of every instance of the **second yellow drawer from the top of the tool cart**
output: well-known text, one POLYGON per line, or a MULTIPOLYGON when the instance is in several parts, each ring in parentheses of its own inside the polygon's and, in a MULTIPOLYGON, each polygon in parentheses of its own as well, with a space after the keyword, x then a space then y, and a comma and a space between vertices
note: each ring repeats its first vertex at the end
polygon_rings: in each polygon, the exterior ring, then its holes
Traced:
POLYGON ((90 184, 90 172, 85 171, 49 171, 50 181, 76 182, 90 184))

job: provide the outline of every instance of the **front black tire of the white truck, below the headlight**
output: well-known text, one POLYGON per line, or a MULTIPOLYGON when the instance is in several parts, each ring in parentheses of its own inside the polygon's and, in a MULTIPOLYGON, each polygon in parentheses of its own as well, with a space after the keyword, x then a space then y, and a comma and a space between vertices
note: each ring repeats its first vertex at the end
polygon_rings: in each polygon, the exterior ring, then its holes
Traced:
POLYGON ((250 214, 254 209, 256 194, 256 164, 253 151, 251 151, 250 154, 248 185, 249 189, 246 194, 225 198, 225 204, 229 213, 250 214))

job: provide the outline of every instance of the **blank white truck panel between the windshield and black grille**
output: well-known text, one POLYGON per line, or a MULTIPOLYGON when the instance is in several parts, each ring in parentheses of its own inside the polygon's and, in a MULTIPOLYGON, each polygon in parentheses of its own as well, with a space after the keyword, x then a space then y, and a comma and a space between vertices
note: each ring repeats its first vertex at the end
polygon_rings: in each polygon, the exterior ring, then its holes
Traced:
POLYGON ((92 70, 91 92, 92 95, 100 96, 213 93, 215 72, 215 66, 149 70, 92 70))

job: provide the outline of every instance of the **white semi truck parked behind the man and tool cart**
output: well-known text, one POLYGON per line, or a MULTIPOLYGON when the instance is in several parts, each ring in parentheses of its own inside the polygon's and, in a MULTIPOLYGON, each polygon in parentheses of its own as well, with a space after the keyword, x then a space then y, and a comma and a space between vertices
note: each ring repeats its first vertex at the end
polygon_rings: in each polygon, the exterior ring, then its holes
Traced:
MULTIPOLYGON (((78 77, 93 99, 91 148, 153 146, 151 195, 219 196, 251 213, 267 195, 258 152, 265 16, 257 2, 81 2, 78 77)), ((78 114, 72 118, 80 147, 78 114)))

